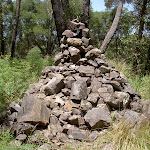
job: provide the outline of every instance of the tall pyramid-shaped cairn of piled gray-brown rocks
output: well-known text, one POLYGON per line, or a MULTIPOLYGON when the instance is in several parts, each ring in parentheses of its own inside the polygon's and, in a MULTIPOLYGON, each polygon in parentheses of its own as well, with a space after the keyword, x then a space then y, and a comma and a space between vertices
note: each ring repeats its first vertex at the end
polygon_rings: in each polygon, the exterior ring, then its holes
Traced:
POLYGON ((71 21, 60 49, 55 65, 45 67, 42 79, 30 85, 21 106, 10 104, 7 124, 19 139, 40 129, 53 142, 93 141, 112 118, 134 127, 150 116, 150 102, 142 103, 123 73, 91 45, 83 23, 71 21))

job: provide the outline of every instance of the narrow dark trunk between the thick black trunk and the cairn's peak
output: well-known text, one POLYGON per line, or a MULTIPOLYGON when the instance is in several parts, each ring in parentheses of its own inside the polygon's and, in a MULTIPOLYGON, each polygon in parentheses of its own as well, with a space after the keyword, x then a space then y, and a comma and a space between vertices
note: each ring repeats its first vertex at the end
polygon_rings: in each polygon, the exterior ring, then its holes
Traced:
POLYGON ((64 11, 65 24, 66 24, 66 27, 68 28, 69 21, 71 19, 69 0, 61 0, 61 3, 62 3, 63 11, 64 11))

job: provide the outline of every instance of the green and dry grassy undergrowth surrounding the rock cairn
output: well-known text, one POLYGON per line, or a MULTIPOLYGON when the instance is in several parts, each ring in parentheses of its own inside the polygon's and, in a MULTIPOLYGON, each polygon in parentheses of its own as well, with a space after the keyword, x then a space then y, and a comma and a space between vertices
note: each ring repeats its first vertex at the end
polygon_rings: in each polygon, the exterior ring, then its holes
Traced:
MULTIPOLYGON (((109 60, 117 70, 123 72, 132 84, 133 88, 142 95, 142 100, 150 99, 150 76, 138 76, 132 73, 132 66, 124 61, 109 60)), ((10 60, 9 56, 0 59, 0 109, 5 108, 11 101, 18 102, 28 89, 29 84, 35 82, 40 77, 41 70, 52 65, 51 58, 42 58, 39 49, 33 48, 26 59, 10 60)), ((36 149, 34 144, 24 144, 21 147, 10 146, 13 136, 9 131, 0 132, 0 147, 4 150, 26 150, 36 149)), ((81 145, 65 144, 63 149, 71 150, 97 150, 104 145, 113 144, 115 150, 149 150, 150 149, 150 125, 142 126, 139 130, 131 130, 123 124, 111 125, 108 132, 99 137, 91 145, 84 142, 81 145)), ((61 149, 61 148, 60 148, 61 149)))

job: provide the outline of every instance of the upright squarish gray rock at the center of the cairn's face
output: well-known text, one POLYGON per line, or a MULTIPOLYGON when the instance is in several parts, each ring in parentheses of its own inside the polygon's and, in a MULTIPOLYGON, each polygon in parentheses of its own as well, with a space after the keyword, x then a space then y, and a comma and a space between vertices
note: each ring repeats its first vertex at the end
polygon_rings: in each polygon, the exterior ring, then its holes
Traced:
POLYGON ((81 100, 87 98, 87 84, 84 81, 76 81, 71 88, 71 99, 81 100))

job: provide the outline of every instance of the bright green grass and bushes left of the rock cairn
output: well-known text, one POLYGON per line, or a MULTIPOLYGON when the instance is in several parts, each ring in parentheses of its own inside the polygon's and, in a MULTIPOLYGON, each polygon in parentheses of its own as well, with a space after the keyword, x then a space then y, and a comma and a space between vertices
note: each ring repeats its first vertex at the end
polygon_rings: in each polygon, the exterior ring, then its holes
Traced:
POLYGON ((27 59, 0 59, 0 112, 8 102, 19 100, 47 65, 52 65, 52 58, 43 59, 38 48, 33 48, 27 59))

